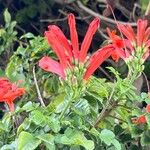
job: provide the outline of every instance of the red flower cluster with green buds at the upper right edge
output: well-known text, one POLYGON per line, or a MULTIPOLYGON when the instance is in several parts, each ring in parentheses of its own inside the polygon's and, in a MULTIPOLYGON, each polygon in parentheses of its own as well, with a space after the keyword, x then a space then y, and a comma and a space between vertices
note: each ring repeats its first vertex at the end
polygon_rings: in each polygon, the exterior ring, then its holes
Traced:
POLYGON ((125 61, 134 59, 142 59, 142 63, 150 54, 150 27, 147 20, 139 19, 137 21, 137 33, 135 34, 131 25, 118 24, 119 31, 123 34, 122 37, 116 35, 115 31, 107 29, 108 35, 114 46, 115 52, 112 55, 114 60, 118 61, 122 58, 125 61), (124 36, 124 37, 123 37, 124 36))

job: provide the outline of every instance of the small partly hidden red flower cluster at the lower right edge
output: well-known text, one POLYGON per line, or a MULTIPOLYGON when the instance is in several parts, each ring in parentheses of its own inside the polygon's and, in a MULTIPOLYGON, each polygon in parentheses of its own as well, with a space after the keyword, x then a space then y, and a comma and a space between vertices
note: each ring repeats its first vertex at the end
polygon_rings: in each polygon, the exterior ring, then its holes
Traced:
MULTIPOLYGON (((150 113, 150 104, 146 106, 146 113, 150 113)), ((131 120, 132 120, 132 123, 135 123, 135 124, 145 124, 147 122, 145 114, 137 118, 132 118, 131 120)))

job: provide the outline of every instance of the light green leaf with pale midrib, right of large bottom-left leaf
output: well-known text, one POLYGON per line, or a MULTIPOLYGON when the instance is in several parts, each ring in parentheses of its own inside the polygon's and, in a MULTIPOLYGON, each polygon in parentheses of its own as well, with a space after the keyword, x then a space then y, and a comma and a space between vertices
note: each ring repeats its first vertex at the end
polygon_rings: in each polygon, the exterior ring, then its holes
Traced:
POLYGON ((43 134, 37 136, 38 139, 44 142, 45 146, 49 150, 55 150, 54 136, 51 134, 43 134))

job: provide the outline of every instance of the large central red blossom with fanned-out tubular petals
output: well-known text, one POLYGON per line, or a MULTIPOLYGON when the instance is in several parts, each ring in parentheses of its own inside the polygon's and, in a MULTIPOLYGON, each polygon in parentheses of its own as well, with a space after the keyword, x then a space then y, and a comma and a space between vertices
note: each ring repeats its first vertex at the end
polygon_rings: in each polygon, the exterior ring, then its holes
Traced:
POLYGON ((87 59, 87 51, 90 47, 92 38, 96 30, 99 28, 99 18, 95 18, 90 23, 80 48, 78 34, 76 31, 75 17, 73 14, 68 15, 68 24, 70 29, 70 42, 67 40, 59 27, 55 25, 50 25, 48 27, 48 31, 45 32, 45 37, 53 51, 56 53, 59 62, 48 56, 44 56, 39 61, 39 66, 45 71, 56 73, 65 79, 67 76, 67 69, 72 70, 76 63, 82 64, 78 66, 82 66, 83 68, 80 69, 85 70, 82 78, 87 80, 98 68, 98 66, 112 54, 114 49, 112 46, 101 48, 87 59))

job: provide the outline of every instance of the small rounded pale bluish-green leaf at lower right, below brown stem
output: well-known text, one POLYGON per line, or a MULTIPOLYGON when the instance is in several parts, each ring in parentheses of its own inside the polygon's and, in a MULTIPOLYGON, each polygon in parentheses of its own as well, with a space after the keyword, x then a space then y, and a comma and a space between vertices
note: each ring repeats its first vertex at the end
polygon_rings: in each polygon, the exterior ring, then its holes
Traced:
POLYGON ((108 146, 110 146, 115 139, 115 134, 108 130, 108 129, 103 129, 100 133, 100 139, 108 146))

